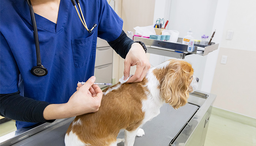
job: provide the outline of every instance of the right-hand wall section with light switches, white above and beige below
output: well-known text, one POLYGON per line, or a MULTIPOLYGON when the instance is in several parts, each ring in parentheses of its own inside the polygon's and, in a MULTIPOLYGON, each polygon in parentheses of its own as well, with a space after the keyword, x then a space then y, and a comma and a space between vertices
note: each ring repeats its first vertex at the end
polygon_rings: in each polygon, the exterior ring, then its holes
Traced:
POLYGON ((256 118, 256 1, 230 0, 211 93, 214 106, 256 118), (233 39, 226 40, 228 30, 233 39), (227 63, 221 64, 222 55, 227 63))

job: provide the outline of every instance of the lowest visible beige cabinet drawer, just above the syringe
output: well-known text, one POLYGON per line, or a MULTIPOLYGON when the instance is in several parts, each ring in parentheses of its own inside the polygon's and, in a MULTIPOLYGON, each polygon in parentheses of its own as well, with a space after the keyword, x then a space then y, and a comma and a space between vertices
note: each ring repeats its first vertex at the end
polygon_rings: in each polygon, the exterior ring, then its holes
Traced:
MULTIPOLYGON (((95 82, 112 82, 112 64, 102 65, 95 67, 94 76, 96 77, 95 82)), ((106 87, 106 85, 99 85, 100 88, 106 87)))

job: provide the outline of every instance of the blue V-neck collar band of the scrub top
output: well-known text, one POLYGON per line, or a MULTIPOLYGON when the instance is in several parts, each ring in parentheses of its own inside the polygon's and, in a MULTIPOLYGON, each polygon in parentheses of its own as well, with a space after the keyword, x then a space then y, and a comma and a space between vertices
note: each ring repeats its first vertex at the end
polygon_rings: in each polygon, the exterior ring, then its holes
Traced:
MULTIPOLYGON (((37 27, 40 27, 44 30, 56 34, 61 32, 67 22, 70 3, 70 0, 60 0, 57 24, 38 14, 35 14, 35 21, 37 22, 37 27)), ((23 18, 25 18, 27 22, 29 22, 32 25, 30 9, 26 0, 14 0, 14 4, 16 5, 16 8, 18 9, 19 13, 23 16, 23 18)))

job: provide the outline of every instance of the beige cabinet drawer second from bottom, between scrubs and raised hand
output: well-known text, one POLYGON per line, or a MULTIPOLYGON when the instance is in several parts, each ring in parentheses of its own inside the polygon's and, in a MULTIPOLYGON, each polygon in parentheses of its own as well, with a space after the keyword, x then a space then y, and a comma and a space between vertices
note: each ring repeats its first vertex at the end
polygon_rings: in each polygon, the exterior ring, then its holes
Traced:
POLYGON ((113 60, 113 49, 111 47, 96 48, 95 67, 111 64, 113 60))

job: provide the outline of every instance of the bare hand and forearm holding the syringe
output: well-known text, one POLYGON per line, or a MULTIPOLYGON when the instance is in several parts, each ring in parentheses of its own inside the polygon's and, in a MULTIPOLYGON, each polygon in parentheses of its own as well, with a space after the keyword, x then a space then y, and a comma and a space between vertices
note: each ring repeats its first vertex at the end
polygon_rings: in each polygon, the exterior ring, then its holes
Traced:
POLYGON ((63 119, 90 112, 97 112, 101 105, 102 91, 94 85, 95 77, 92 76, 85 84, 78 84, 77 91, 64 104, 50 104, 43 112, 45 120, 63 119))

